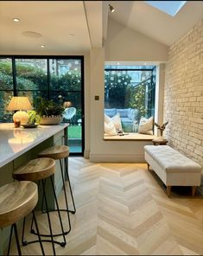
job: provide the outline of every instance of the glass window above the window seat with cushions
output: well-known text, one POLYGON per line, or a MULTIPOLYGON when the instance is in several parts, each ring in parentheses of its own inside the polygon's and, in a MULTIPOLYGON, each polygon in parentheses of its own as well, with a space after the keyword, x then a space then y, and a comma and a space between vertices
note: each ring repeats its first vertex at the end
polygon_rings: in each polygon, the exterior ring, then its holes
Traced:
POLYGON ((141 117, 155 116, 154 66, 105 66, 105 113, 118 112, 125 132, 136 132, 141 117))

